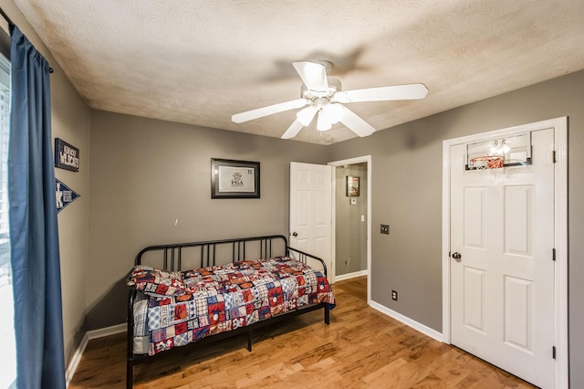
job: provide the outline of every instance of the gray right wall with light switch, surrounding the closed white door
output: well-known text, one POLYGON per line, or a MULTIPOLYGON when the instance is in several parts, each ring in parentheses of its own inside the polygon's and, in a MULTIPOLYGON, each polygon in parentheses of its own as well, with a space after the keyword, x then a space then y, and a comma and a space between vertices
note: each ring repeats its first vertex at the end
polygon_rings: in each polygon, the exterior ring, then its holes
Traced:
POLYGON ((584 71, 331 147, 332 160, 372 159, 371 299, 442 331, 442 142, 560 116, 568 128, 569 355, 584 387, 584 71), (391 235, 379 234, 390 224, 391 235), (392 301, 391 289, 400 300, 392 301))

